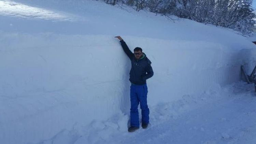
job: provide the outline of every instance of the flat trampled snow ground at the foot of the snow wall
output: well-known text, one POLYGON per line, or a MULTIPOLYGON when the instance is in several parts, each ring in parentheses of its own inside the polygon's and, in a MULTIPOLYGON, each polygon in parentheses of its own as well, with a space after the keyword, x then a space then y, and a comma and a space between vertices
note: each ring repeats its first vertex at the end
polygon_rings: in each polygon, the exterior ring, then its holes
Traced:
MULTIPOLYGON (((89 128, 81 128, 90 129, 91 133, 81 132, 75 144, 255 144, 255 96, 254 86, 244 82, 216 86, 199 96, 186 95, 179 101, 152 107, 151 125, 146 130, 117 132, 109 121, 95 122, 89 128)), ((61 136, 51 140, 62 140, 61 136)))

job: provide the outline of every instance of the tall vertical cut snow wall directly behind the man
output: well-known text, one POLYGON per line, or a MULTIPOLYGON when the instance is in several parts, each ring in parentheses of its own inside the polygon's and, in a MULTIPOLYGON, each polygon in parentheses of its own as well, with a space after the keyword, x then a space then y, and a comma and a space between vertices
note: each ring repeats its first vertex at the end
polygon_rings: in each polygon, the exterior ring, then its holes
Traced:
MULTIPOLYGON (((129 115, 131 64, 114 35, 1 35, 4 142, 33 143, 77 123, 129 115)), ((123 36, 131 50, 142 47, 152 61, 149 106, 241 80, 240 66, 251 72, 256 51, 237 37, 215 43, 123 36)))

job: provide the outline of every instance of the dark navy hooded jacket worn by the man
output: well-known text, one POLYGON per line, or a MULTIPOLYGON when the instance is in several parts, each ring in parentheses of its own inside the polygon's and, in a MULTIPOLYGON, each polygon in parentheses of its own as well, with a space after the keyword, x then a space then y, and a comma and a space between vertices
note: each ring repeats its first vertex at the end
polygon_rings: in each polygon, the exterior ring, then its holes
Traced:
POLYGON ((131 70, 130 70, 130 82, 136 85, 146 84, 146 80, 154 75, 153 69, 151 67, 151 61, 143 53, 143 56, 137 60, 134 54, 130 51, 129 47, 124 40, 121 40, 121 45, 126 53, 126 55, 131 60, 131 70))

